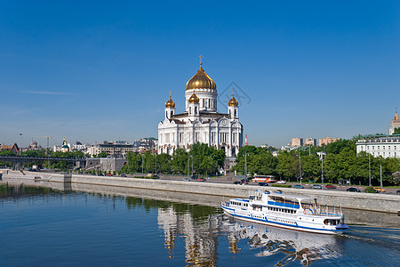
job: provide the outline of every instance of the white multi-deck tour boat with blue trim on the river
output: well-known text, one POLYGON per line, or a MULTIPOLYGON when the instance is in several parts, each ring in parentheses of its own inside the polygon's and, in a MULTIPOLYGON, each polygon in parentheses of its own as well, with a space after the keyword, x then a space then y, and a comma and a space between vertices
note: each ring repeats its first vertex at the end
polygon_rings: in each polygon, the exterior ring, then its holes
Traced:
POLYGON ((220 206, 226 214, 252 223, 326 234, 348 231, 341 207, 319 206, 316 198, 255 190, 249 198, 232 198, 220 206))

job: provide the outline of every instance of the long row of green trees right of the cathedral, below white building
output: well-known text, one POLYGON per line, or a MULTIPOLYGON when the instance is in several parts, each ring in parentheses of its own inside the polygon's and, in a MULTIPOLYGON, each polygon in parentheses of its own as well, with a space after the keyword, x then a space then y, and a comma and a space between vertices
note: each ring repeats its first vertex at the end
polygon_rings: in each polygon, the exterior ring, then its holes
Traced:
POLYGON ((270 150, 246 146, 239 150, 236 158, 237 172, 244 173, 244 160, 247 161, 248 174, 272 174, 288 181, 336 183, 340 179, 349 179, 352 184, 369 184, 370 175, 372 184, 380 184, 380 166, 382 166, 382 180, 388 184, 400 183, 399 158, 374 158, 367 153, 356 154, 356 141, 341 139, 323 147, 303 147, 299 150, 279 151, 274 157, 270 150), (324 152, 321 159, 317 152, 324 152), (247 154, 245 158, 244 155, 247 154), (301 168, 300 168, 301 166, 301 168))

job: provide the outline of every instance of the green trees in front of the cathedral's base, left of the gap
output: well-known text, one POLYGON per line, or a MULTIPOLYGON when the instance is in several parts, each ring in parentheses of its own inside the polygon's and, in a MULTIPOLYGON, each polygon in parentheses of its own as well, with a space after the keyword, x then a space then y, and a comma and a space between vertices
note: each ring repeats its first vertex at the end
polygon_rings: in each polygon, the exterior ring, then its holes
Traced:
POLYGON ((209 147, 204 143, 195 143, 189 151, 178 149, 173 155, 153 155, 128 153, 128 164, 121 172, 164 173, 164 174, 216 174, 224 165, 225 152, 209 147))

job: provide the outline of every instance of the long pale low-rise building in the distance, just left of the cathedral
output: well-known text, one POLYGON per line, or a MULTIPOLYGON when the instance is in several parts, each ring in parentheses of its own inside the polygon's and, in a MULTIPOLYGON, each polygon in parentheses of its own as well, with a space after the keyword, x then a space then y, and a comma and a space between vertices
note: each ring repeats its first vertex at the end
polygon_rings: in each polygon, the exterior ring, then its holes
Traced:
POLYGON ((105 152, 108 158, 125 158, 128 152, 136 152, 136 148, 132 144, 118 142, 95 143, 87 148, 87 153, 91 157, 95 157, 105 152))

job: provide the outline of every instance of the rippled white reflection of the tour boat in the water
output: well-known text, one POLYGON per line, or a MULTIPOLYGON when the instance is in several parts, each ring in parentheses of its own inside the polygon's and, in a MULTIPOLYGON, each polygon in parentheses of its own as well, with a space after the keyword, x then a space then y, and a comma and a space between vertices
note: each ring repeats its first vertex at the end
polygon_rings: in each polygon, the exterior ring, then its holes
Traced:
MULTIPOLYGON (((224 216, 222 216, 224 218, 224 216)), ((340 237, 302 231, 285 230, 273 226, 239 222, 233 219, 222 220, 222 228, 228 232, 229 251, 240 252, 238 243, 248 239, 252 248, 259 248, 257 256, 282 254, 276 266, 283 266, 299 260, 303 265, 317 260, 340 257, 338 239, 340 237)))

